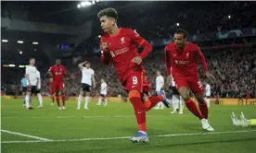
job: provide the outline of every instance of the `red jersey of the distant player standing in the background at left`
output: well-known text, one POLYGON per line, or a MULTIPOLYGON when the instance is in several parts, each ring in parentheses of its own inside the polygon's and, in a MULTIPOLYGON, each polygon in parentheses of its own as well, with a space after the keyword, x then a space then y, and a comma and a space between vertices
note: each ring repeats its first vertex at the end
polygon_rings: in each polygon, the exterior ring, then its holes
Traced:
POLYGON ((66 68, 63 65, 52 65, 48 71, 53 74, 55 84, 63 84, 63 78, 66 74, 66 68))

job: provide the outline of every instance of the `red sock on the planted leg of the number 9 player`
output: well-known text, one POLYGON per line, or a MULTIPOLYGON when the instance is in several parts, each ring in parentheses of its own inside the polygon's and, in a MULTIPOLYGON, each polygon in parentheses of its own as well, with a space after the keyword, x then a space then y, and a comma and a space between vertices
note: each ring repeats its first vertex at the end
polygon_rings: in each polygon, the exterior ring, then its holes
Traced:
POLYGON ((138 130, 146 132, 146 109, 141 100, 141 95, 138 91, 130 91, 129 99, 134 106, 134 112, 138 124, 138 130))

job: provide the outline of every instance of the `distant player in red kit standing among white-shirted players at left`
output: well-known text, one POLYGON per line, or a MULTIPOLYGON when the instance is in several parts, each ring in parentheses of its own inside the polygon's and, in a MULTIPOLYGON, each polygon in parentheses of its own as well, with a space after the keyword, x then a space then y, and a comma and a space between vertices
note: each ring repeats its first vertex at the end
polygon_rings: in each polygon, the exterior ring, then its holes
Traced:
MULTIPOLYGON (((52 65, 48 70, 49 76, 53 76, 53 83, 52 83, 52 91, 55 92, 56 100, 58 104, 59 110, 66 110, 65 107, 65 93, 63 92, 64 88, 64 75, 66 75, 66 68, 63 65, 60 65, 60 59, 56 60, 56 65, 52 65), (62 99, 62 108, 59 105, 59 96, 62 99)), ((54 95, 54 94, 53 94, 54 95)))

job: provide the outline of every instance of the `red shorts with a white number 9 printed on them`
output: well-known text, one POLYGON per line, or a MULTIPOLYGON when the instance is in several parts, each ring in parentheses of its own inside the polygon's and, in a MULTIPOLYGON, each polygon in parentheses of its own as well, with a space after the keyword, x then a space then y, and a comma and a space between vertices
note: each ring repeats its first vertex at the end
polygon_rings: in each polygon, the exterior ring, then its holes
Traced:
POLYGON ((144 73, 139 71, 134 71, 131 76, 128 76, 123 82, 122 87, 126 91, 137 90, 143 92, 143 79, 144 73))

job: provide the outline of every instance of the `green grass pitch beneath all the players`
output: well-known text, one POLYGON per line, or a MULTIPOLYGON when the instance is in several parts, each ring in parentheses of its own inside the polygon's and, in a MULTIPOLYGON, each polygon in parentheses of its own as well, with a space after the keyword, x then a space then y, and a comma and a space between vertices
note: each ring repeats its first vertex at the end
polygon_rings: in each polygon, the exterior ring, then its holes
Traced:
POLYGON ((67 101, 67 110, 58 111, 57 106, 51 106, 50 102, 45 100, 44 108, 36 109, 37 100, 33 100, 34 109, 26 111, 21 106, 22 100, 2 99, 2 130, 54 140, 42 142, 37 138, 2 131, 3 152, 238 153, 256 150, 256 127, 233 126, 230 119, 231 112, 236 114, 244 112, 248 119, 256 118, 255 106, 212 105, 209 117, 215 129, 212 135, 201 135, 205 132, 201 130, 200 122, 187 110, 183 115, 170 114, 172 110, 166 108, 163 111, 151 110, 147 112, 149 143, 132 144, 129 138, 125 138, 137 132, 134 109, 129 102, 109 102, 107 107, 99 107, 96 106, 96 101, 90 101, 89 111, 83 109, 76 111, 76 101, 67 101), (18 142, 11 143, 13 141, 18 142))

